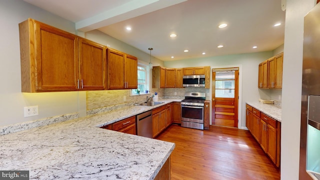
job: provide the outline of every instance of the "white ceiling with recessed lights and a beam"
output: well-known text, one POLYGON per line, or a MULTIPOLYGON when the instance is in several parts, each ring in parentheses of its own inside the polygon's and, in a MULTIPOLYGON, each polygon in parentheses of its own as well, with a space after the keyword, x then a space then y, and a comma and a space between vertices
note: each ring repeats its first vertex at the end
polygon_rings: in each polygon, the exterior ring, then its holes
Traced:
POLYGON ((80 31, 98 29, 146 53, 152 47, 152 56, 164 61, 267 51, 284 42, 281 0, 24 1, 75 22, 80 31))

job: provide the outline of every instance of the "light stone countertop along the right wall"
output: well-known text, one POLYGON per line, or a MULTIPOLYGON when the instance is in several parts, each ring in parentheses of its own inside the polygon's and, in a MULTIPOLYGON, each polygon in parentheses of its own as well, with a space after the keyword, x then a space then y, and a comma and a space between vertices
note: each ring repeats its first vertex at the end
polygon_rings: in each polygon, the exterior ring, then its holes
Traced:
POLYGON ((268 115, 269 117, 272 117, 273 119, 281 122, 281 108, 275 106, 274 104, 266 104, 262 102, 246 103, 263 112, 264 114, 268 115))

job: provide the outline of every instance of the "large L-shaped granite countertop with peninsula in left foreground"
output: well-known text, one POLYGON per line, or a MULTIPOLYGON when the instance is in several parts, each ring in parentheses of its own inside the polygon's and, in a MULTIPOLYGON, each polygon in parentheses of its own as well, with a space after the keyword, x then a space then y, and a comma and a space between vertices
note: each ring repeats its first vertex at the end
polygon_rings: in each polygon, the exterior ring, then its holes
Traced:
POLYGON ((154 179, 174 143, 98 128, 156 106, 126 106, 0 136, 0 169, 30 179, 154 179))

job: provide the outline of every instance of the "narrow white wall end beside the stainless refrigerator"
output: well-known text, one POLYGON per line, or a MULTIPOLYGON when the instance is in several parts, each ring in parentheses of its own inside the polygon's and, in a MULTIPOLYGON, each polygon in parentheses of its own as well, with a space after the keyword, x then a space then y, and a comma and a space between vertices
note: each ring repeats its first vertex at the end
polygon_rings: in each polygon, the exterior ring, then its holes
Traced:
POLYGON ((281 118, 283 180, 298 179, 303 18, 314 4, 315 0, 286 0, 281 118))

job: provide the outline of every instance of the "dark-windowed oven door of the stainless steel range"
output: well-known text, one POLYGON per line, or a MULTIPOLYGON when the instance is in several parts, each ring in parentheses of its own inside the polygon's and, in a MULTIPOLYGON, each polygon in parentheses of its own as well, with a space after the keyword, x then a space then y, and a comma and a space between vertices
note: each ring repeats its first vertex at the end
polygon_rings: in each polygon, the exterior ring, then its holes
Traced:
POLYGON ((203 123, 203 106, 181 105, 181 120, 203 123))

